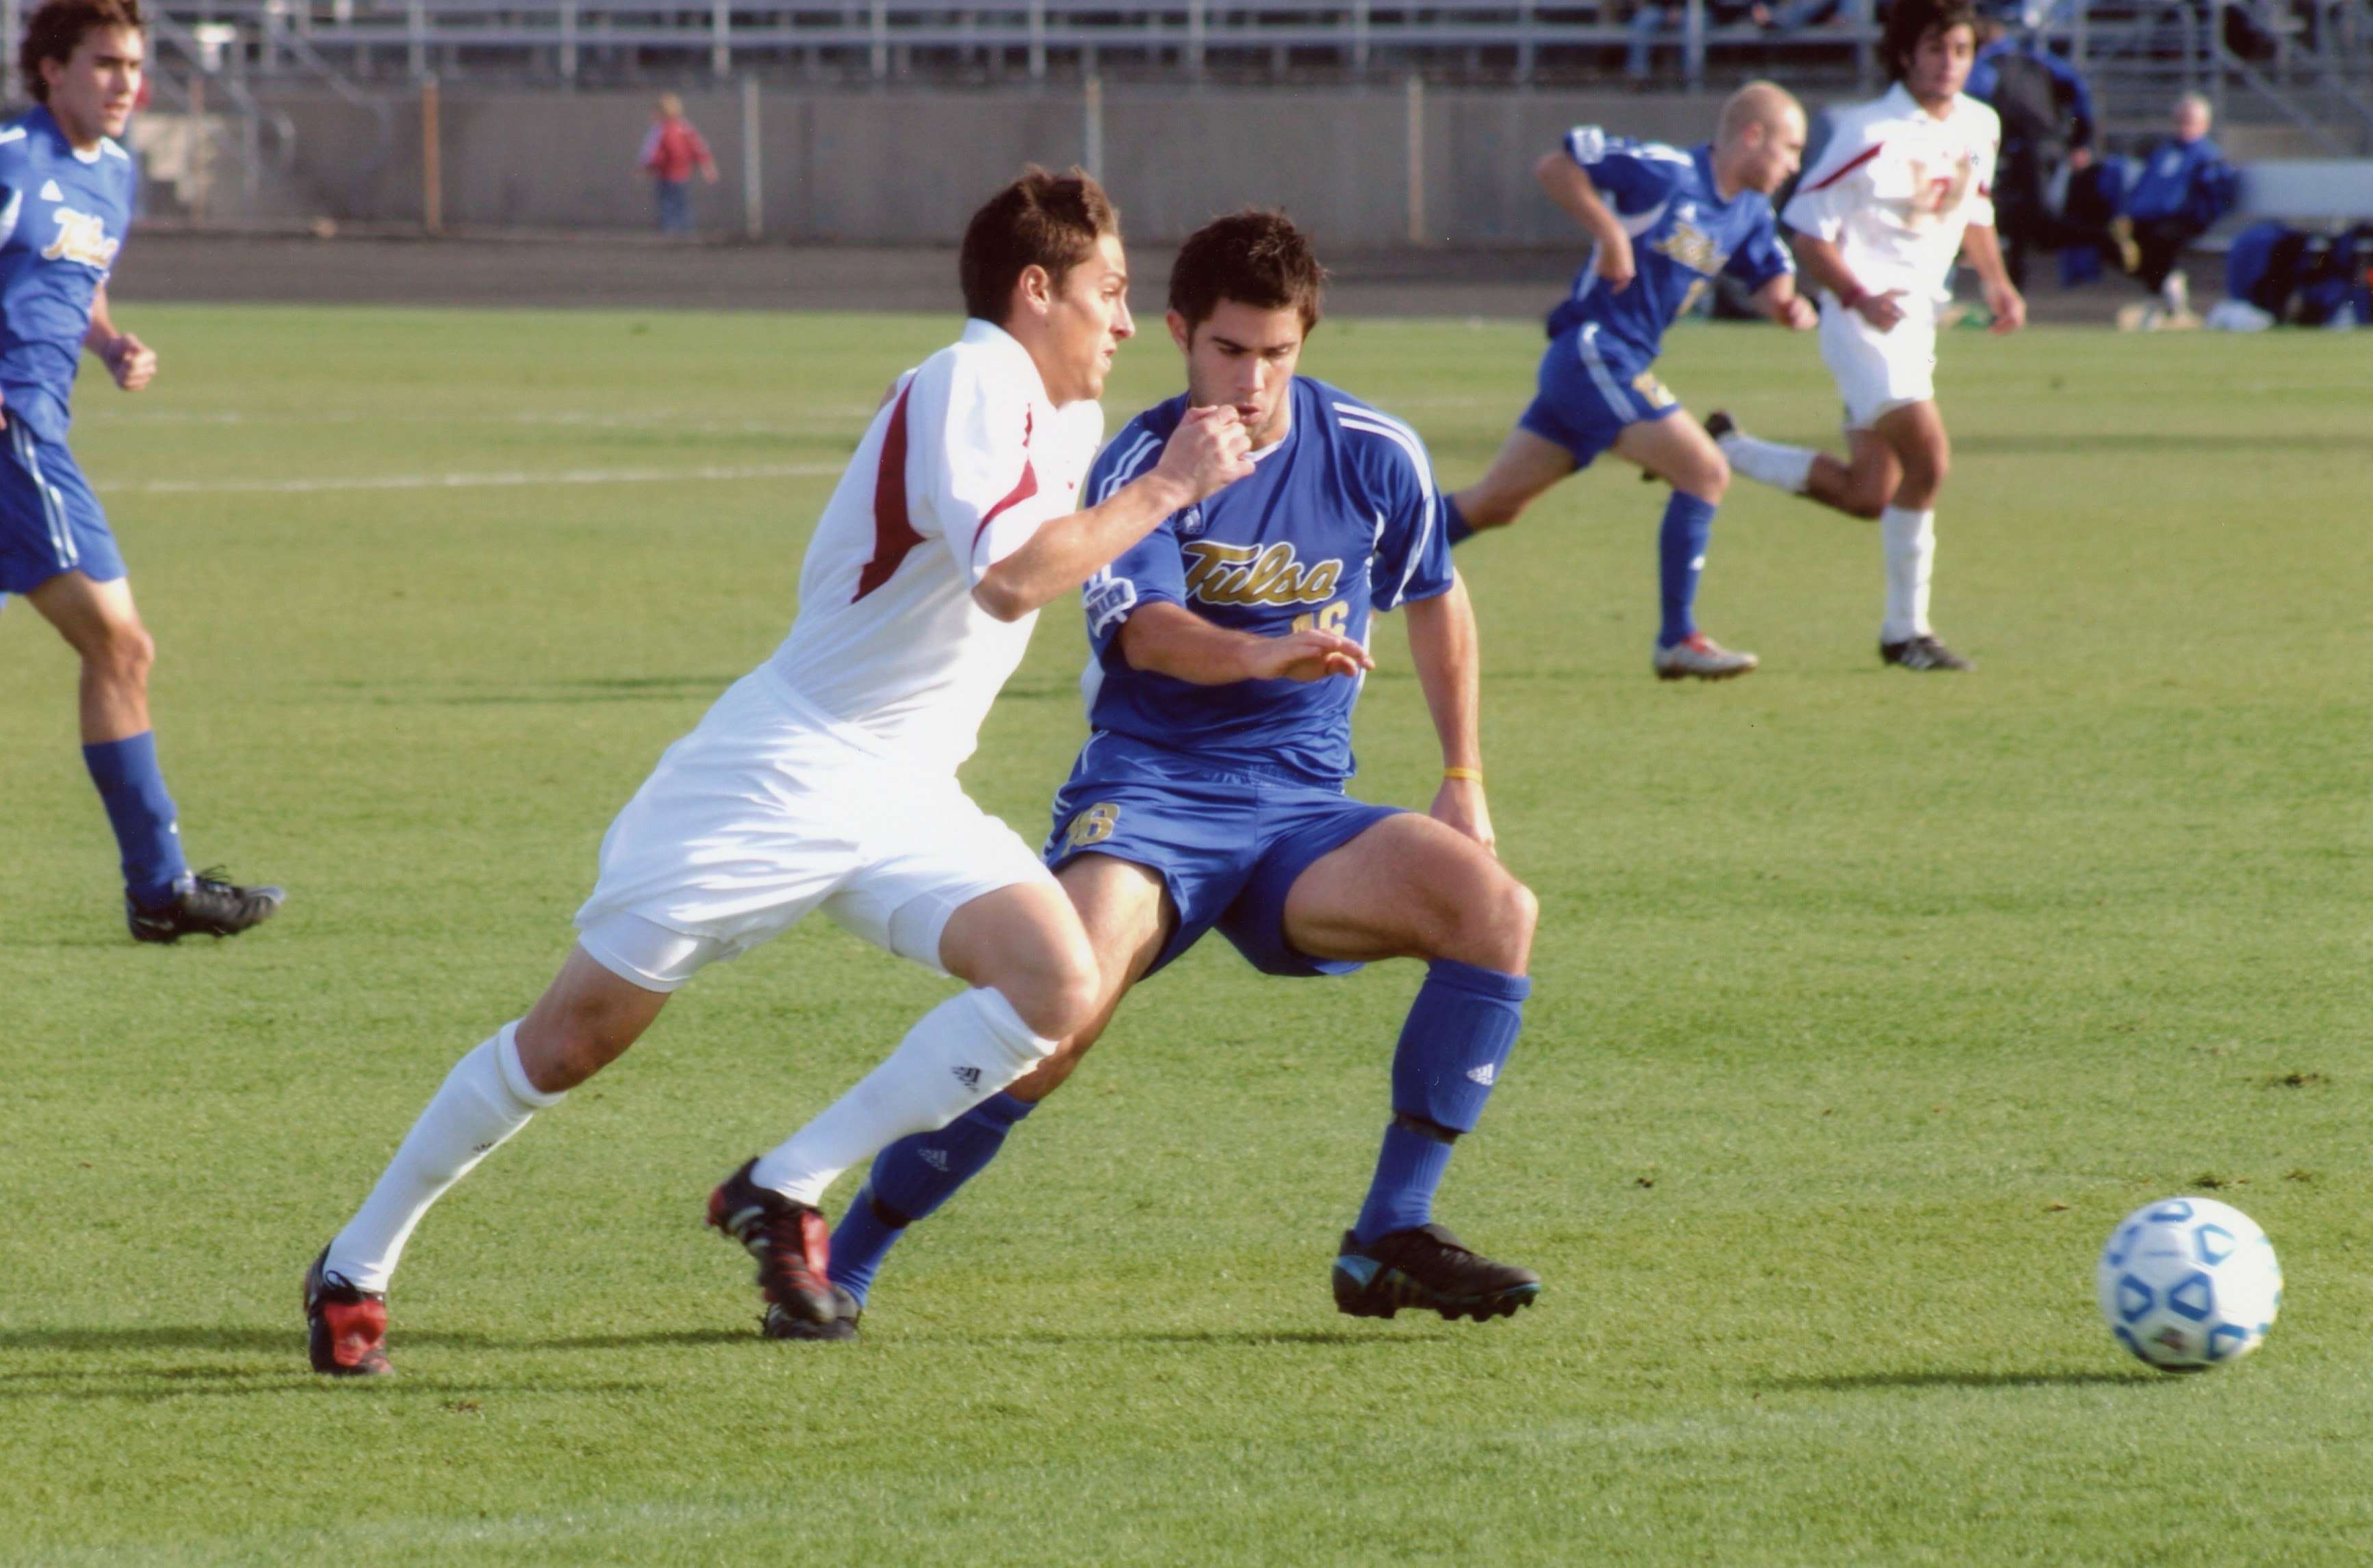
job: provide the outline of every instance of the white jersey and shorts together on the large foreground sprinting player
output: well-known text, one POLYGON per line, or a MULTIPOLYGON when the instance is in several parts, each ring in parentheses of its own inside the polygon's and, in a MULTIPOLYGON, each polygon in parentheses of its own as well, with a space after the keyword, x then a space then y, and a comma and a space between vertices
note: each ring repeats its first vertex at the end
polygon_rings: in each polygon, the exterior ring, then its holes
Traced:
POLYGON ((902 377, 833 491, 776 655, 672 745, 603 837, 579 944, 669 992, 814 909, 940 968, 940 930, 1044 880, 956 783, 1030 645, 982 574, 1077 510, 1096 403, 1054 408, 1030 353, 971 320, 902 377))

